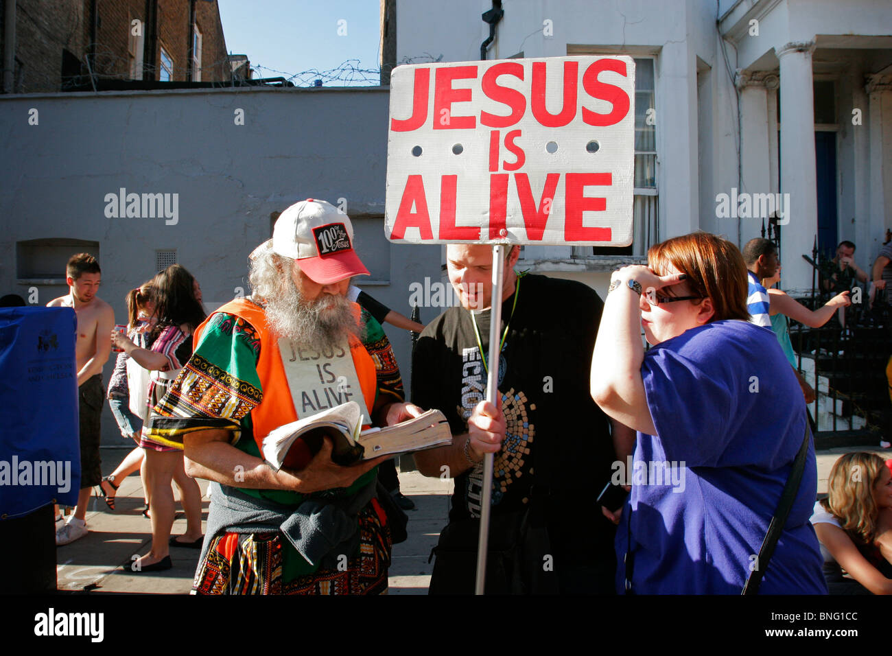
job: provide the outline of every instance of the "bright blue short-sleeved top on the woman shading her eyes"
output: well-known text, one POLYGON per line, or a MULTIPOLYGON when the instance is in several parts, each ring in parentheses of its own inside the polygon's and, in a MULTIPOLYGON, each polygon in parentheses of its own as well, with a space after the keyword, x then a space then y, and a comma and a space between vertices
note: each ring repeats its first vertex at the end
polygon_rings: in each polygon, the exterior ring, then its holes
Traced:
MULTIPOLYGON (((739 594, 805 435, 802 391, 772 331, 739 320, 653 347, 641 374, 657 436, 638 434, 616 532, 617 588, 629 568, 635 594, 739 594)), ((809 442, 762 594, 827 593, 808 521, 817 492, 809 442)))

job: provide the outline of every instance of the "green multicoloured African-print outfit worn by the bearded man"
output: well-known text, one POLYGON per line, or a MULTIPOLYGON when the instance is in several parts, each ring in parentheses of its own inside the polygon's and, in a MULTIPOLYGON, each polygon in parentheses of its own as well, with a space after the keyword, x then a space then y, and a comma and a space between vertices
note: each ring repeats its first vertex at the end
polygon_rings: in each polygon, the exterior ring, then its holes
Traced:
MULTIPOLYGON (((367 311, 360 314, 362 344, 375 362, 377 410, 402 401, 402 379, 392 347, 381 325, 367 311)), ((192 357, 153 408, 150 436, 165 444, 182 444, 186 433, 223 428, 232 432, 235 448, 261 458, 253 439, 251 412, 263 399, 258 376, 260 333, 248 321, 227 312, 211 316, 192 357)), ((373 411, 373 415, 375 412, 373 411)), ((376 469, 359 477, 350 487, 303 495, 287 490, 250 490, 262 497, 296 508, 308 497, 327 499, 350 495, 373 482, 376 469)), ((358 552, 351 554, 346 569, 317 569, 305 561, 293 545, 277 534, 258 536, 260 548, 241 551, 244 541, 254 544, 254 534, 224 532, 214 536, 211 549, 199 564, 196 592, 257 591, 282 593, 348 593, 386 589, 390 561, 389 529, 377 513, 375 502, 359 513, 358 552), (271 540, 271 542, 270 542, 271 540), (234 567, 233 562, 239 564, 234 567), (270 564, 275 563, 275 564, 270 564)))

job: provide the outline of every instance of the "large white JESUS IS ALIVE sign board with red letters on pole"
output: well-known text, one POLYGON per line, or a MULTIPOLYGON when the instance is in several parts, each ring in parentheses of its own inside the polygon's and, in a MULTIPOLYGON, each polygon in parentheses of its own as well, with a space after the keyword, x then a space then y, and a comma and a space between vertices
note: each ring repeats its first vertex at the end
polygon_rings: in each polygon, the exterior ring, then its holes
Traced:
POLYGON ((632 243, 628 56, 392 71, 385 232, 403 243, 632 243))

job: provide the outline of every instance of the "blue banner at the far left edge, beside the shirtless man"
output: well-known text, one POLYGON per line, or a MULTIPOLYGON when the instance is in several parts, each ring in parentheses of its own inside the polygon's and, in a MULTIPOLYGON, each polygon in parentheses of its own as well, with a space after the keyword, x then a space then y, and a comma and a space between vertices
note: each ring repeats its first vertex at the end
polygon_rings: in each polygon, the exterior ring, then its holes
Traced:
POLYGON ((77 327, 71 308, 0 308, 0 519, 78 502, 77 327))

